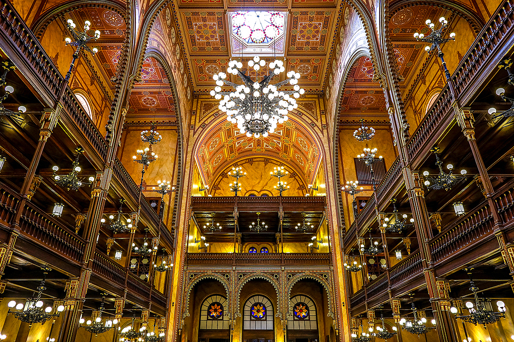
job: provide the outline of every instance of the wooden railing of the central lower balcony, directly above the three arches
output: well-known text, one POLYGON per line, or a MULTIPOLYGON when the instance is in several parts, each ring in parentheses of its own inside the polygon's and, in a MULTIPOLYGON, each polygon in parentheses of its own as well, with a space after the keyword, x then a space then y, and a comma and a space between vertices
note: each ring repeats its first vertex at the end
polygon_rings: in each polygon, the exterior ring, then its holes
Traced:
POLYGON ((188 266, 329 266, 330 253, 188 253, 188 266))

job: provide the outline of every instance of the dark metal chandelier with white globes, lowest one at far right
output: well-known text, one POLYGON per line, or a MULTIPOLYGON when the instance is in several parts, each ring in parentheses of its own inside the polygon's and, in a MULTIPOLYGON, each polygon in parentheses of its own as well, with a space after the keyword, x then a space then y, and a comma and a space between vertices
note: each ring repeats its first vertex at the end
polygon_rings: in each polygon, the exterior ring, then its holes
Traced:
MULTIPOLYGON (((456 316, 456 318, 460 318, 463 321, 466 321, 468 323, 474 324, 475 326, 480 324, 483 325, 484 328, 486 328, 487 324, 496 323, 500 320, 500 318, 505 318, 505 311, 507 310, 505 308, 505 303, 503 303, 502 300, 498 300, 496 304, 498 305, 498 312, 489 311, 486 309, 486 303, 490 303, 490 299, 484 299, 480 298, 478 295, 479 288, 475 286, 475 283, 473 279, 471 279, 471 272, 468 269, 465 269, 468 272, 469 279, 470 279, 470 287, 469 290, 473 292, 473 295, 475 297, 475 306, 473 306, 473 303, 468 301, 466 303, 466 307, 468 308, 469 315, 465 316, 456 316)), ((452 313, 457 313, 458 309, 455 307, 451 307, 450 311, 452 313)))

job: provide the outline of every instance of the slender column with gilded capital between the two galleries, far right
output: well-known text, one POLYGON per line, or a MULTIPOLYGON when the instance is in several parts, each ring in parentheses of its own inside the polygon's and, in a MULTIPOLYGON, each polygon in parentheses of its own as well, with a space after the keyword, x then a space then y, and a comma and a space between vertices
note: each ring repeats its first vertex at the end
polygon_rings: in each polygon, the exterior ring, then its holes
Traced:
POLYGON ((484 160, 482 159, 482 155, 480 154, 479 147, 476 144, 475 127, 473 126, 475 118, 473 117, 473 112, 469 108, 460 108, 456 102, 452 105, 455 110, 455 119, 457 120, 458 125, 461 126, 462 133, 468 139, 476 167, 479 169, 479 174, 482 178, 482 185, 484 186, 487 202, 489 202, 489 208, 494 219, 494 224, 498 225, 500 223, 500 216, 498 215, 498 210, 492 200, 494 189, 492 188, 491 180, 489 179, 489 174, 487 173, 487 168, 484 164, 484 160))

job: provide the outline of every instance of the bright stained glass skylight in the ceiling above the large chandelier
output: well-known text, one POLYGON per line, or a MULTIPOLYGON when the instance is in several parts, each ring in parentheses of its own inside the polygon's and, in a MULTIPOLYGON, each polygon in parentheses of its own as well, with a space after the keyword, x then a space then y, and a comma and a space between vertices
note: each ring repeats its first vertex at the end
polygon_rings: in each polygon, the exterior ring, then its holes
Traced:
POLYGON ((229 13, 232 56, 284 55, 287 12, 238 11, 229 13))

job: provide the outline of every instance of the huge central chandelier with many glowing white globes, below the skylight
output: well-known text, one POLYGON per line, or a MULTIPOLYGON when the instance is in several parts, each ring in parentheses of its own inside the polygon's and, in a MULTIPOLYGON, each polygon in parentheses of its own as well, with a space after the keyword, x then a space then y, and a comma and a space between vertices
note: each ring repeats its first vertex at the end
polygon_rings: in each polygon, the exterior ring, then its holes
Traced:
POLYGON ((227 112, 227 120, 237 124, 241 133, 248 137, 268 136, 288 119, 287 113, 298 107, 296 99, 305 90, 298 85, 300 73, 287 72, 287 78, 277 84, 270 84, 275 75, 280 75, 285 70, 284 62, 276 59, 268 64, 269 72, 264 74, 261 81, 257 75, 261 67, 266 66, 266 61, 259 56, 254 56, 248 61, 248 69, 243 70, 243 62, 232 60, 228 63, 227 73, 237 75, 243 84, 237 85, 228 81, 228 75, 219 72, 212 76, 216 81, 216 87, 211 90, 211 96, 219 100, 219 110, 227 112), (253 80, 247 72, 253 68, 256 77, 253 80), (289 83, 293 90, 279 91, 280 87, 289 83), (222 90, 223 85, 233 88, 231 91, 222 90))

